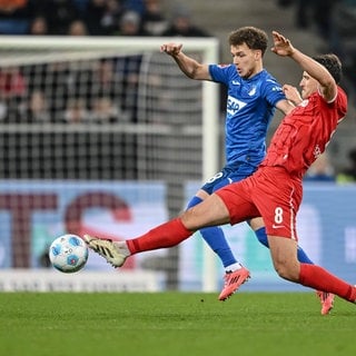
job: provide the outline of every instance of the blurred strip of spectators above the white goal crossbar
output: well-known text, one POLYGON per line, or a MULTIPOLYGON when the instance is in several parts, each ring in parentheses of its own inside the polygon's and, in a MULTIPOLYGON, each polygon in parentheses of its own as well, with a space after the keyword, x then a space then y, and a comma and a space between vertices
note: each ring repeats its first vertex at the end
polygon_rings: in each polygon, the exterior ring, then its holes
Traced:
POLYGON ((0 0, 0 33, 207 37, 190 11, 164 0, 0 0))

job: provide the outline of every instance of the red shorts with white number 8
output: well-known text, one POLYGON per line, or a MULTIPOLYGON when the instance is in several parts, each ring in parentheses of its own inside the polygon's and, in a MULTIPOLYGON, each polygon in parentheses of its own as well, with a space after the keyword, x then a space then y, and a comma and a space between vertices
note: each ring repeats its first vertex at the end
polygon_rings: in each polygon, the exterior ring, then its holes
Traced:
POLYGON ((216 194, 228 208, 231 225, 261 216, 267 235, 298 240, 296 215, 303 186, 300 179, 291 178, 284 168, 260 168, 247 179, 230 184, 216 194))

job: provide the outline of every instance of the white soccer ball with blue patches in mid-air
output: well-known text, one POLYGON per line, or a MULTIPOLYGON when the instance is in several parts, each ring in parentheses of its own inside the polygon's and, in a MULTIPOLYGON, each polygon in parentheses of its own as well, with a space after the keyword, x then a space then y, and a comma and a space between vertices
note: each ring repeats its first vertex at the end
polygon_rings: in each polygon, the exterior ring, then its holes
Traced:
POLYGON ((88 255, 86 243, 72 234, 56 238, 49 248, 52 266, 65 274, 71 274, 85 267, 88 255))

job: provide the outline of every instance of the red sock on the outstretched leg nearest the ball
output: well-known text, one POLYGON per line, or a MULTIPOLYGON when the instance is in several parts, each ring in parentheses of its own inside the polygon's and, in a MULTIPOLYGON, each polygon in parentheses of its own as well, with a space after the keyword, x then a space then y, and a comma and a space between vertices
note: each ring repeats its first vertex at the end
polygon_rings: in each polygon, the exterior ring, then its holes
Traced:
POLYGON ((126 240, 131 255, 158 248, 172 247, 191 236, 179 218, 165 222, 140 237, 126 240))

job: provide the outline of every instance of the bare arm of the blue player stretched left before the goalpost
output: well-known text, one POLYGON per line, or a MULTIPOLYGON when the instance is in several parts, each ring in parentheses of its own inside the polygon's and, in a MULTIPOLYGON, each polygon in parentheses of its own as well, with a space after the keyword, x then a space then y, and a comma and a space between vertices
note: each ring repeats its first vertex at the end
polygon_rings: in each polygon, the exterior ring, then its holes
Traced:
POLYGON ((160 51, 174 58, 180 70, 190 79, 211 80, 208 65, 199 63, 181 51, 181 43, 165 43, 160 51))

